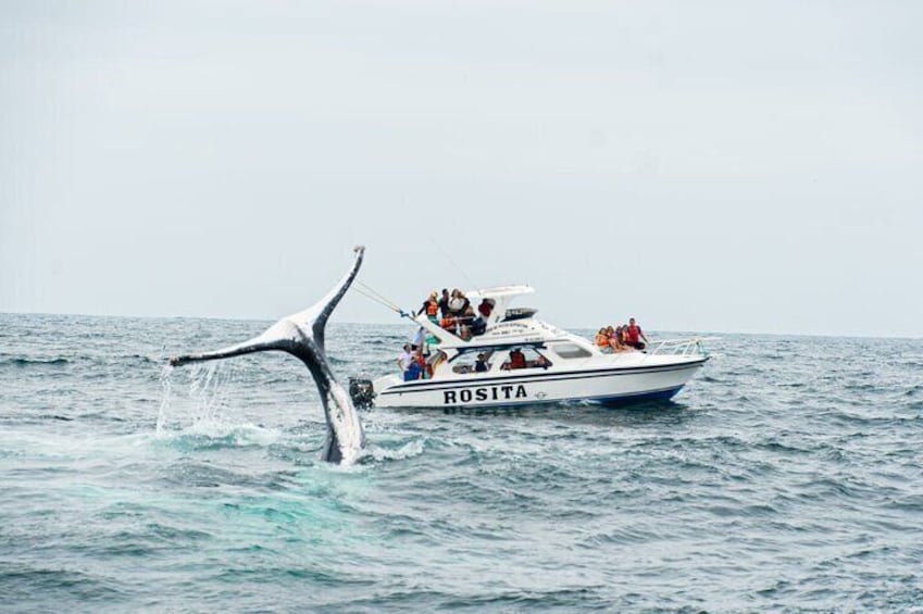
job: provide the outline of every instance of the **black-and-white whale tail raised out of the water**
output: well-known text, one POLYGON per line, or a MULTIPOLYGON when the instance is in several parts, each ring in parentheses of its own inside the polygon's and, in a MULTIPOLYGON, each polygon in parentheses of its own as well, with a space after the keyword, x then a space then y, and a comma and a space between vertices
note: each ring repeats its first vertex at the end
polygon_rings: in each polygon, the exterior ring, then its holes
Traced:
POLYGON ((299 358, 314 377, 317 391, 321 394, 321 402, 324 405, 327 438, 322 459, 330 463, 351 464, 365 447, 365 433, 349 394, 337 383, 327 362, 327 355, 324 352, 324 328, 362 265, 365 248, 359 246, 354 251, 356 259, 352 268, 326 297, 313 306, 283 317, 267 328, 265 333, 249 341, 213 352, 171 356, 170 364, 180 366, 190 362, 228 359, 241 354, 269 351, 288 352, 299 358))

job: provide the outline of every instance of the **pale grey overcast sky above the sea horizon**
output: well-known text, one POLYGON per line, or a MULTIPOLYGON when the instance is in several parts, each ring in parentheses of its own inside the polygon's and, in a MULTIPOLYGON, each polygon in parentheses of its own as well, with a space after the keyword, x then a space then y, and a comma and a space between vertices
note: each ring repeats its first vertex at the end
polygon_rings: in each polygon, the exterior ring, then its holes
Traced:
MULTIPOLYGON (((923 336, 923 2, 0 0, 0 311, 529 283, 562 326, 923 336)), ((394 322, 359 295, 340 322, 394 322)))

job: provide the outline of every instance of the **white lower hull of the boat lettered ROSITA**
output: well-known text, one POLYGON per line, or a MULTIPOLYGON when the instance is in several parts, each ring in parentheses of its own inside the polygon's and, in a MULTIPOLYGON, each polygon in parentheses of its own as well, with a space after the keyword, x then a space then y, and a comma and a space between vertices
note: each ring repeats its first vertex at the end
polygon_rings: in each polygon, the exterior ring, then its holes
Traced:
POLYGON ((492 377, 376 381, 379 408, 489 408, 582 401, 623 405, 675 396, 707 358, 593 371, 506 372, 492 377))

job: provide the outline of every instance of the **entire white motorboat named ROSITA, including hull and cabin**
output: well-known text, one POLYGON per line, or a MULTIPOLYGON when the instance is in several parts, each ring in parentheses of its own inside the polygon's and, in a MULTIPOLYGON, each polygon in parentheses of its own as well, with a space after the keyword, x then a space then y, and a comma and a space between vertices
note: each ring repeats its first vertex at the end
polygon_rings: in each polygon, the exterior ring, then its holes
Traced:
MULTIPOLYGON (((483 335, 463 339, 425 315, 408 315, 431 341, 423 379, 400 373, 352 380, 357 404, 379 408, 486 408, 583 401, 618 405, 670 399, 708 361, 702 339, 654 342, 607 353, 589 340, 510 309, 535 290, 502 286, 466 293, 492 305, 483 335)), ((407 315, 407 314, 406 314, 407 315)))

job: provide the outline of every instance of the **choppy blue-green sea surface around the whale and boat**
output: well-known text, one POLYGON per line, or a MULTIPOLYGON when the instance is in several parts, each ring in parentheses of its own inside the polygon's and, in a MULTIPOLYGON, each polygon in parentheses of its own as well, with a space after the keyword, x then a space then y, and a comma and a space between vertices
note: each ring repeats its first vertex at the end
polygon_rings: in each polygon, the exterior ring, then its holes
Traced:
MULTIPOLYGON (((269 324, 0 314, 0 611, 923 612, 921 340, 724 335, 626 409, 370 410, 340 467, 297 360, 165 368, 269 324)), ((332 324, 340 381, 411 334, 332 324)))

